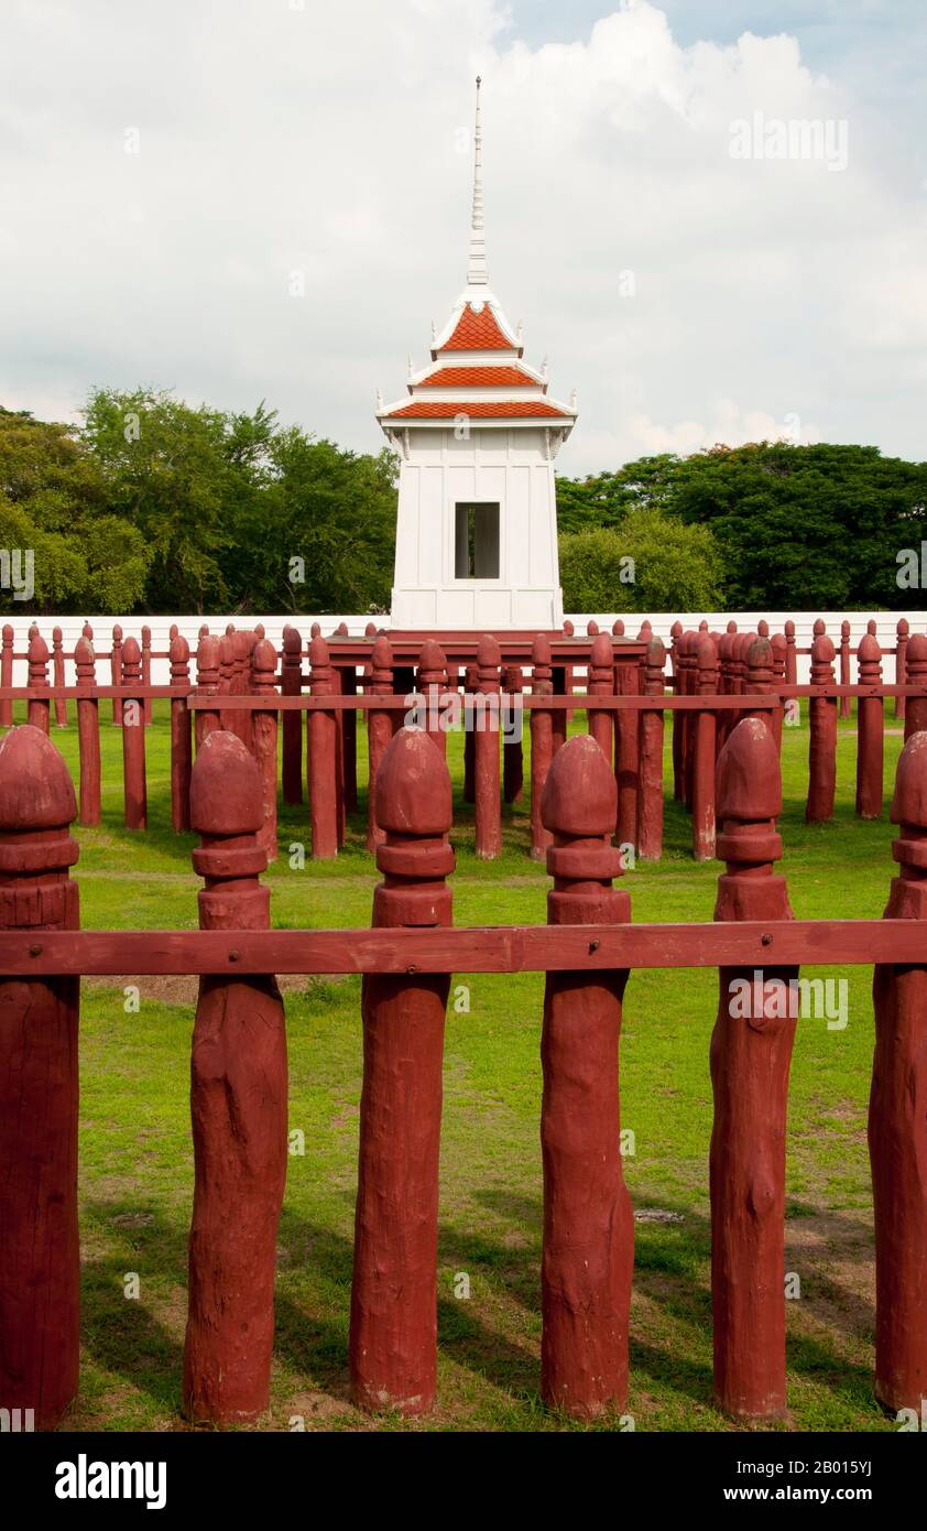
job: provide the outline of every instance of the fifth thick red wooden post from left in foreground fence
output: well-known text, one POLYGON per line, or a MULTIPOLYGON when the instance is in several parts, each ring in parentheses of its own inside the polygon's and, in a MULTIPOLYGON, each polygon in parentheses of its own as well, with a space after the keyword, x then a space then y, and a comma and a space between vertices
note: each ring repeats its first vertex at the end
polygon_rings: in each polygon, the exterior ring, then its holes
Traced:
MULTIPOLYGON (((716 920, 792 919, 776 818, 779 755, 743 718, 717 761, 716 920)), ((785 1127, 795 968, 722 968, 711 1036, 711 1303, 714 1396, 740 1419, 782 1415, 785 1392, 785 1127)))

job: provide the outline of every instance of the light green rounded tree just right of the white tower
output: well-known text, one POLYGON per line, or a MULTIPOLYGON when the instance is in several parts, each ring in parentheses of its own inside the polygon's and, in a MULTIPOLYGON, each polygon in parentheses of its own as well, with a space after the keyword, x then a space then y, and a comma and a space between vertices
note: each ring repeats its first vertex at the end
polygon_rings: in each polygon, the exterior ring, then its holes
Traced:
POLYGON ((722 562, 705 527, 635 510, 620 528, 560 537, 568 611, 698 611, 720 600, 722 562))

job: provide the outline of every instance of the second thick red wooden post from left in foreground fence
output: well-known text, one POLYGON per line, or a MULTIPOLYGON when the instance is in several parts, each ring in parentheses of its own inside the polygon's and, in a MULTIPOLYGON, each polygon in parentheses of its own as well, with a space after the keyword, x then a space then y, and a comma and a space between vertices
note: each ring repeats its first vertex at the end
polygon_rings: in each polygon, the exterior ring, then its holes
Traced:
MULTIPOLYGON (((266 931, 269 891, 257 834, 257 764, 242 739, 213 732, 193 767, 190 819, 202 836, 205 931, 266 931)), ((190 1115, 196 1182, 184 1407, 214 1424, 268 1407, 277 1226, 286 1179, 286 1027, 272 975, 200 978, 190 1115)))

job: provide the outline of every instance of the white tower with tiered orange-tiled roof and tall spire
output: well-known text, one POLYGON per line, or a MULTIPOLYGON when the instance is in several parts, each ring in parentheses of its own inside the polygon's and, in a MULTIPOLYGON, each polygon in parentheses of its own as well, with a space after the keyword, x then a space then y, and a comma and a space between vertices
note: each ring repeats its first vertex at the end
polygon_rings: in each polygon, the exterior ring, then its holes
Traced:
POLYGON ((522 358, 488 286, 476 81, 467 286, 407 398, 376 418, 399 453, 393 628, 560 628, 554 458, 577 418, 522 358))

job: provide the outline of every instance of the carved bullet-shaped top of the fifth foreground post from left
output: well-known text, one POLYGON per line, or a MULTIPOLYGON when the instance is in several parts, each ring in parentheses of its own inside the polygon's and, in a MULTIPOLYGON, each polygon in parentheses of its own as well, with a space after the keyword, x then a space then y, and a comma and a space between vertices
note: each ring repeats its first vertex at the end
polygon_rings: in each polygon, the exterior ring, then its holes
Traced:
POLYGON ((717 856, 728 870, 765 865, 782 856, 776 819, 782 813, 782 772, 762 718, 742 718, 717 756, 717 856))

